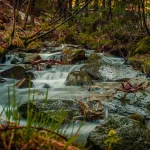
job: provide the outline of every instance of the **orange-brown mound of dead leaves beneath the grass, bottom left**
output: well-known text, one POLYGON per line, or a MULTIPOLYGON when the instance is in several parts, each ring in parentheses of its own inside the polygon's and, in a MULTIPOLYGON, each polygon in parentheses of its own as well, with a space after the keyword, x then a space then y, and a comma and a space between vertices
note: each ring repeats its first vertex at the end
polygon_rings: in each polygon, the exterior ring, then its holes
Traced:
MULTIPOLYGON (((27 127, 0 120, 0 149, 5 150, 79 150, 68 140, 48 129, 30 127, 27 136, 27 127)), ((74 135, 74 138, 77 135, 74 135)))

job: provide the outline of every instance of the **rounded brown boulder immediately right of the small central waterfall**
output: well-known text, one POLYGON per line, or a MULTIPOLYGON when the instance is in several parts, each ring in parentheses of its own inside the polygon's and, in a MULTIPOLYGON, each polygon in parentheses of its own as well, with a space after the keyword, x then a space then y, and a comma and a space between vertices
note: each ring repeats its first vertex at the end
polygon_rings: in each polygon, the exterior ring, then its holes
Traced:
POLYGON ((74 71, 68 74, 65 84, 70 86, 91 85, 92 79, 88 74, 83 71, 74 71))

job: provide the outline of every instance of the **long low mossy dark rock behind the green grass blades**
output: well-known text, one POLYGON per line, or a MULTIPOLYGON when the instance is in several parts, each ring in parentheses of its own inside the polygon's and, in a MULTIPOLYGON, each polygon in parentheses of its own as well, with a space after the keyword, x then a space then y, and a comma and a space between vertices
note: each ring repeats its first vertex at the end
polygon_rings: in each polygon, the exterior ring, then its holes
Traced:
MULTIPOLYGON (((70 123, 71 120, 80 115, 79 108, 76 102, 72 100, 36 100, 34 103, 23 103, 18 107, 18 111, 23 118, 27 118, 27 110, 31 112, 32 118, 35 117, 38 121, 56 121, 70 123), (53 113, 53 112, 57 113, 53 113), (61 115, 60 115, 61 114, 61 115), (61 117, 61 118, 60 118, 61 117)), ((35 119, 34 118, 34 119, 35 119)))

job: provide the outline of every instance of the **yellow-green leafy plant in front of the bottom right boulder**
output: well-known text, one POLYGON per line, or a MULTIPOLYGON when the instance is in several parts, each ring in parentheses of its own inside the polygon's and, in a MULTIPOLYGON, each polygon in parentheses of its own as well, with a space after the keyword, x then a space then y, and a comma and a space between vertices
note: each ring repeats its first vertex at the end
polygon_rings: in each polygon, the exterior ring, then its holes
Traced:
POLYGON ((110 130, 107 139, 104 141, 106 150, 113 150, 113 146, 119 141, 119 137, 115 130, 110 130))

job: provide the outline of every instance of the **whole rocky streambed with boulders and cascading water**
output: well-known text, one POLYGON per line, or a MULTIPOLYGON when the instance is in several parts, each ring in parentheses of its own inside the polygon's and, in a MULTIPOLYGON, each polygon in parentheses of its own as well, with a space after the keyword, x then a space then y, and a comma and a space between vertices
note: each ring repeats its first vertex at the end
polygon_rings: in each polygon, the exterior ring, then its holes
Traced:
POLYGON ((72 122, 65 132, 67 136, 74 134, 84 122, 78 143, 85 142, 86 147, 94 150, 105 149, 104 141, 113 129, 120 139, 115 149, 148 150, 149 81, 122 58, 75 45, 48 47, 39 53, 14 50, 0 65, 0 72, 0 104, 8 103, 8 87, 13 101, 15 87, 18 110, 24 118, 30 83, 34 112, 51 115, 62 108, 68 112, 62 125, 65 130, 72 122), (141 142, 145 144, 138 146, 141 142))

